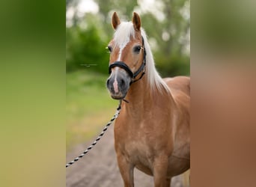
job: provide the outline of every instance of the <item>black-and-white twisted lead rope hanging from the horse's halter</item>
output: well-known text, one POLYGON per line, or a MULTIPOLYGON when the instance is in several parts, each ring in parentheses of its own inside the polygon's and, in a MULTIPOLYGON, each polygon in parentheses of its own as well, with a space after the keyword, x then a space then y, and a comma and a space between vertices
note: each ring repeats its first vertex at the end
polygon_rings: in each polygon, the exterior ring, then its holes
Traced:
POLYGON ((108 127, 113 123, 113 121, 118 118, 118 115, 120 114, 121 111, 121 100, 119 102, 117 111, 115 112, 114 116, 112 117, 112 119, 109 121, 109 123, 106 124, 106 126, 103 129, 103 132, 100 133, 100 135, 98 136, 98 138, 94 141, 94 143, 92 143, 81 155, 79 155, 78 157, 76 157, 76 159, 73 159, 73 161, 68 162, 66 165, 66 168, 69 167, 70 165, 73 165, 74 162, 77 162, 79 159, 81 159, 83 156, 85 156, 86 153, 89 152, 89 150, 91 150, 98 141, 100 141, 100 138, 103 137, 104 133, 106 132, 106 130, 108 129, 108 127))

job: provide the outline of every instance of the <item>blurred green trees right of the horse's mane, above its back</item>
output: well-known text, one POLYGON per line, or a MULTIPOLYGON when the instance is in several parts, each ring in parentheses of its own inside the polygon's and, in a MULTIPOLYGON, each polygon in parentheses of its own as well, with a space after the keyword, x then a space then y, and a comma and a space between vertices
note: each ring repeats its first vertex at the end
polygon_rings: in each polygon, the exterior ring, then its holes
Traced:
POLYGON ((156 43, 154 58, 162 76, 189 75, 189 52, 186 52, 189 38, 186 36, 189 35, 190 19, 185 16, 189 13, 186 12, 189 11, 189 2, 162 0, 165 17, 160 21, 151 11, 141 15, 147 35, 156 43))

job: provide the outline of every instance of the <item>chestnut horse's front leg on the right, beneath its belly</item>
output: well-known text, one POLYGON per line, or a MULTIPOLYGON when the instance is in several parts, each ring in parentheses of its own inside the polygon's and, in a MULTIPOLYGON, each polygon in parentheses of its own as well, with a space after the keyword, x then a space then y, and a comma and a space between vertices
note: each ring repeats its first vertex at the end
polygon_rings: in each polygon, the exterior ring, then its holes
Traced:
POLYGON ((153 162, 153 180, 155 187, 170 186, 171 180, 167 177, 168 157, 158 156, 153 162))

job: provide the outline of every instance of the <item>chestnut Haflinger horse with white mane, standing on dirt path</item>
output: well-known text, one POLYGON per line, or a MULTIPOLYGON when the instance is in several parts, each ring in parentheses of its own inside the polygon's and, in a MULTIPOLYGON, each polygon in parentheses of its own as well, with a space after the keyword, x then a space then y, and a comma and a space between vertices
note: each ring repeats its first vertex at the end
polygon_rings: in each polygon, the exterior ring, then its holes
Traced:
POLYGON ((170 186, 171 177, 190 168, 190 79, 159 76, 137 13, 132 22, 114 13, 112 26, 106 85, 122 101, 115 151, 124 186, 134 186, 134 168, 153 176, 155 187, 170 186))

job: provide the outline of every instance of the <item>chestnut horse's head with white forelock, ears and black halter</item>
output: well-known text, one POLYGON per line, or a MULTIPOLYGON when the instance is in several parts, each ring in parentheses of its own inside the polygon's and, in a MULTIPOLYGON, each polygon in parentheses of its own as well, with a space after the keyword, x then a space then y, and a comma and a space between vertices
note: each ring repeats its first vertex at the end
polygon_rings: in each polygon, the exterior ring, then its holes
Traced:
POLYGON ((120 22, 118 14, 114 13, 112 26, 115 34, 108 46, 110 76, 106 85, 113 99, 124 99, 132 82, 144 75, 146 52, 141 19, 133 13, 132 22, 120 22))

